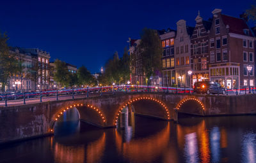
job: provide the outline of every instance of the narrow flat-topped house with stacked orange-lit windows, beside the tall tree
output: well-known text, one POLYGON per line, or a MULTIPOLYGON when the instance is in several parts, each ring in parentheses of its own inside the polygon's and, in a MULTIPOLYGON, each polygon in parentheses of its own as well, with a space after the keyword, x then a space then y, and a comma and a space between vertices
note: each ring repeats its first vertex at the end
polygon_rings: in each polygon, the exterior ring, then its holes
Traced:
POLYGON ((162 85, 171 87, 175 84, 175 63, 174 63, 174 38, 176 31, 168 29, 159 31, 161 38, 162 54, 162 85))

